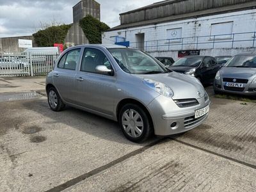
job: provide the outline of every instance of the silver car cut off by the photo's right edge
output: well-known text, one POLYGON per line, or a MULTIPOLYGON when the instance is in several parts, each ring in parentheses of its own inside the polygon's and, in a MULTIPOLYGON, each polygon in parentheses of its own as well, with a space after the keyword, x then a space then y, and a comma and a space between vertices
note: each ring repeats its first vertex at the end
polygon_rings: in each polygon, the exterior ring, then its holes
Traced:
POLYGON ((214 92, 256 96, 256 53, 234 56, 214 80, 214 92))

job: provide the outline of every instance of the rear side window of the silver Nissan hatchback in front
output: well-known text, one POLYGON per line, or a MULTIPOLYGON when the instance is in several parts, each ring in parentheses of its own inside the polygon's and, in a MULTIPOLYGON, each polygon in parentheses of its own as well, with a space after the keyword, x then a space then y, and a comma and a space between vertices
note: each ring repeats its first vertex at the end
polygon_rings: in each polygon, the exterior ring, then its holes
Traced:
POLYGON ((76 65, 79 62, 80 49, 73 49, 64 54, 58 63, 58 68, 76 70, 76 65))

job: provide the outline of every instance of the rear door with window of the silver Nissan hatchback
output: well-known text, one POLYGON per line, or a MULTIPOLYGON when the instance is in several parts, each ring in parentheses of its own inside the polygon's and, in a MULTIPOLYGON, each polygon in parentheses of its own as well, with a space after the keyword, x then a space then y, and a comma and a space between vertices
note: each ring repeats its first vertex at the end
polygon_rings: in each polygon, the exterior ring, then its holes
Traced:
POLYGON ((53 72, 53 83, 60 96, 66 102, 74 103, 75 77, 77 66, 81 58, 81 49, 72 49, 66 52, 57 63, 53 72))

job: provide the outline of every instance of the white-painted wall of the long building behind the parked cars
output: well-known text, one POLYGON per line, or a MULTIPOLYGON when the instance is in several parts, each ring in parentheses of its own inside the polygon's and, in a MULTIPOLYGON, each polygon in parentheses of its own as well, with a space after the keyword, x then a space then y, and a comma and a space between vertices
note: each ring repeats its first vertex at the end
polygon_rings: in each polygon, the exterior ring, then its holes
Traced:
MULTIPOLYGON (((162 24, 141 26, 137 28, 120 29, 116 31, 107 31, 102 35, 103 44, 113 44, 115 43, 115 36, 125 37, 127 41, 130 41, 131 47, 136 47, 136 34, 145 33, 145 47, 144 50, 147 52, 164 52, 164 51, 178 51, 186 49, 212 49, 212 44, 215 42, 214 48, 220 49, 223 47, 231 48, 232 36, 220 36, 218 39, 216 36, 215 40, 211 35, 212 24, 233 22, 232 33, 246 33, 256 31, 256 10, 244 10, 232 13, 222 13, 219 15, 211 15, 207 17, 199 17, 194 19, 179 20, 173 22, 165 22, 162 24), (168 29, 180 29, 181 28, 181 38, 193 37, 188 39, 183 39, 184 43, 188 45, 181 45, 182 39, 171 40, 170 36, 166 36, 168 29), (204 42, 204 44, 198 44, 196 47, 196 37, 199 38, 199 42, 204 42), (206 36, 206 37, 202 37, 206 36), (225 42, 228 41, 228 42, 225 42), (218 43, 221 42, 221 43, 218 43), (156 47, 162 45, 156 51, 156 47)), ((223 29, 226 33, 226 29, 223 29)), ((223 34, 221 29, 218 31, 223 34)), ((234 48, 240 47, 252 47, 253 39, 255 36, 253 33, 248 34, 237 34, 234 38, 237 42, 234 42, 234 48), (248 40, 243 42, 238 42, 239 40, 248 40)), ((255 43, 256 46, 256 43, 255 43)), ((214 52, 214 54, 221 54, 221 52, 214 52)), ((177 58, 177 56, 176 56, 177 58)))

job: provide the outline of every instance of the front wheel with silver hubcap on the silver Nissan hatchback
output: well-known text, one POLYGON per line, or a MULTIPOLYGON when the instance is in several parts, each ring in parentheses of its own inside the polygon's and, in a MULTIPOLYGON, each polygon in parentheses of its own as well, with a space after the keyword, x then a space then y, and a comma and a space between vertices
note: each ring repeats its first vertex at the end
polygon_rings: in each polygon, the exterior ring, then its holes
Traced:
POLYGON ((120 110, 118 122, 125 137, 135 143, 147 140, 153 131, 147 114, 136 104, 125 104, 120 110))

